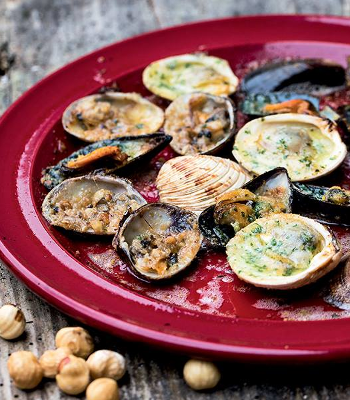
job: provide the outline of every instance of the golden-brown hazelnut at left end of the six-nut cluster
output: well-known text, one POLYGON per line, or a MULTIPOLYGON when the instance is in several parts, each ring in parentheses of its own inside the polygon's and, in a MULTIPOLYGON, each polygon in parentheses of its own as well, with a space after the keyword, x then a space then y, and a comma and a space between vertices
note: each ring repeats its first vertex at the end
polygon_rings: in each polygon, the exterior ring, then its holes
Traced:
POLYGON ((33 389, 43 378, 38 359, 30 351, 16 351, 7 361, 7 369, 13 383, 20 389, 33 389))

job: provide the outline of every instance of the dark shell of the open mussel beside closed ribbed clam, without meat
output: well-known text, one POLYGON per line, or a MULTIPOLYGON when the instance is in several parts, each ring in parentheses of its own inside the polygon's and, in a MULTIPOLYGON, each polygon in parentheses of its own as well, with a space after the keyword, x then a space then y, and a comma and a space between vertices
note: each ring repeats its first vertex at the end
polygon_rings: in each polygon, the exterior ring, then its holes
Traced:
MULTIPOLYGON (((275 187, 276 182, 280 181, 286 190, 286 212, 292 211, 293 190, 292 184, 285 168, 275 168, 267 171, 257 178, 247 182, 242 189, 248 189, 259 195, 266 195, 271 187, 275 187)), ((278 185, 277 185, 278 187, 278 185)), ((203 236, 209 240, 215 248, 223 248, 228 241, 235 235, 235 231, 228 225, 218 225, 214 221, 215 205, 206 208, 198 218, 199 228, 203 236)))

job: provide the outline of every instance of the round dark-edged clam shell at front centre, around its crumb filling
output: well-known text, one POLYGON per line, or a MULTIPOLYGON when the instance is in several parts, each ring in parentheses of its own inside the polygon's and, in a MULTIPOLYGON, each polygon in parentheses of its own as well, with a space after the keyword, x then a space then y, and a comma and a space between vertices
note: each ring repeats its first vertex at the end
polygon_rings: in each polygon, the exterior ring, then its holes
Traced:
POLYGON ((125 255, 132 270, 138 276, 147 281, 160 281, 172 278, 185 270, 196 257, 201 247, 201 242, 202 235, 199 231, 197 216, 195 214, 170 204, 152 203, 140 207, 127 216, 121 224, 118 233, 115 235, 112 245, 117 251, 125 255), (191 257, 182 265, 172 265, 164 275, 137 268, 130 252, 130 245, 137 236, 141 235, 142 232, 149 232, 150 229, 155 233, 166 231, 170 235, 171 233, 193 230, 197 234, 198 240, 193 243, 192 248, 186 243, 186 254, 190 254, 191 257))

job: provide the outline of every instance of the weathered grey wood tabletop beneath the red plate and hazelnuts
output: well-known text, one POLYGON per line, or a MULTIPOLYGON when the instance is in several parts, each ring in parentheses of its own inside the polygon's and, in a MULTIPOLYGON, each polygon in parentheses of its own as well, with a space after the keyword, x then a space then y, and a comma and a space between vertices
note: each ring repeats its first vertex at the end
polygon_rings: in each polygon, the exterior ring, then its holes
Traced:
MULTIPOLYGON (((0 0, 0 113, 49 72, 108 43, 178 23, 252 13, 350 15, 350 0, 0 0)), ((58 329, 76 322, 29 292, 3 264, 0 268, 0 303, 21 305, 28 320, 21 340, 0 341, 0 399, 72 398, 53 382, 32 392, 11 385, 6 369, 11 352, 30 349, 40 355, 52 348, 58 329)), ((195 393, 182 380, 184 358, 92 333, 98 347, 127 357, 122 399, 350 398, 347 366, 315 370, 227 364, 215 392, 195 393)))

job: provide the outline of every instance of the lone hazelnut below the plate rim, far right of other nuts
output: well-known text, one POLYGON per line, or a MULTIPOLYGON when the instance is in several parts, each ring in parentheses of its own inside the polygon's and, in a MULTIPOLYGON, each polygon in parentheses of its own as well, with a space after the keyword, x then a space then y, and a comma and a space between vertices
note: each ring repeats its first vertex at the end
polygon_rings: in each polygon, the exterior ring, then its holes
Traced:
POLYGON ((209 361, 189 360, 184 366, 184 378, 194 390, 212 389, 221 378, 218 368, 209 361))

